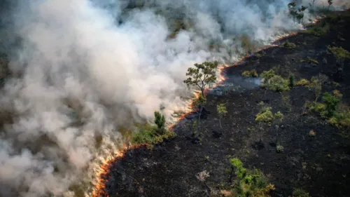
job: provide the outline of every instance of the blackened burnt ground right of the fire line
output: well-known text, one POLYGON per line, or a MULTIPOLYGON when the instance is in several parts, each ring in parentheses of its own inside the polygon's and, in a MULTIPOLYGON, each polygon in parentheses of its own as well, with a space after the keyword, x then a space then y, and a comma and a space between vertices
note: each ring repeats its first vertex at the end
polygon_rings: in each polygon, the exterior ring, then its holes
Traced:
POLYGON ((344 95, 342 102, 349 104, 350 62, 346 60, 339 72, 335 57, 326 49, 333 45, 350 50, 350 20, 347 19, 332 22, 330 32, 321 37, 305 33, 289 37, 288 41, 296 43, 296 48, 268 48, 261 57, 248 57, 237 67, 228 67, 225 91, 221 88, 207 96, 206 109, 211 113, 201 122, 201 136, 197 140, 190 137, 189 125, 193 120, 188 116, 174 127, 178 134, 174 139, 158 144, 153 150, 128 151, 111 167, 106 182, 109 196, 208 196, 206 186, 196 174, 207 170, 210 173, 207 185, 211 191, 219 191, 228 186, 228 159, 232 156, 240 158, 247 168, 262 170, 276 186, 272 196, 290 196, 293 188, 304 189, 313 197, 350 196, 349 140, 318 114, 302 113, 304 103, 315 99, 313 93, 304 87, 295 87, 286 93, 271 90, 265 93, 255 83, 249 85, 249 81, 239 79, 244 70, 256 69, 260 74, 272 67, 277 67, 284 77, 293 72, 295 80, 326 74, 329 81, 323 91, 337 89, 344 95), (320 64, 300 62, 307 57, 320 64), (234 82, 233 86, 230 81, 234 82), (279 140, 284 147, 281 153, 276 152, 274 127, 265 130, 262 144, 256 144, 260 135, 255 115, 257 104, 262 100, 273 107, 274 112, 285 115, 279 130, 279 140), (228 108, 228 115, 221 120, 222 130, 216 114, 218 103, 225 103, 228 108), (310 130, 316 131, 315 137, 309 137, 310 130), (221 136, 216 135, 221 131, 221 136))

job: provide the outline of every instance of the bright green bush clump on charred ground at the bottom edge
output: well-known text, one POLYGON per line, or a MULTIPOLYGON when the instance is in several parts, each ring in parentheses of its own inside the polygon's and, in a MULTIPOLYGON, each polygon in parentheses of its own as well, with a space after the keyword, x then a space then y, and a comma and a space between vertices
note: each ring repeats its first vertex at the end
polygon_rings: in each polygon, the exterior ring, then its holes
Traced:
POLYGON ((232 193, 235 193, 235 197, 269 197, 269 192, 274 190, 274 185, 267 183, 267 178, 260 170, 244 168, 239 158, 231 158, 230 163, 237 175, 235 184, 232 186, 232 193))

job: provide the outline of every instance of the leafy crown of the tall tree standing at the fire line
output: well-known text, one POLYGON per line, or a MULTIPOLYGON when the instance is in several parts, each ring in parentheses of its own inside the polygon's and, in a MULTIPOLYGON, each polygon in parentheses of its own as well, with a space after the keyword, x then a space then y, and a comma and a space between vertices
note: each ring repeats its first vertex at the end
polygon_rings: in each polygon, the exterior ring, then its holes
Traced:
POLYGON ((218 62, 203 62, 202 64, 195 64, 195 68, 190 67, 187 70, 186 76, 188 79, 183 81, 186 85, 196 86, 200 88, 202 96, 204 95, 205 88, 216 81, 216 68, 218 62))

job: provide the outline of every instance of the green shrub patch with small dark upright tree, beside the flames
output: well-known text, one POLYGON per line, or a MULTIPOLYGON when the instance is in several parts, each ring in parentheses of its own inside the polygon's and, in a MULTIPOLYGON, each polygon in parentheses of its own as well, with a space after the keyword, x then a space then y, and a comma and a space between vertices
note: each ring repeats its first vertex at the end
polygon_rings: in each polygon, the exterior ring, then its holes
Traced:
POLYGON ((139 131, 132 136, 134 144, 153 145, 163 142, 175 136, 175 133, 165 129, 165 117, 160 112, 155 111, 155 125, 145 124, 139 126, 139 131))

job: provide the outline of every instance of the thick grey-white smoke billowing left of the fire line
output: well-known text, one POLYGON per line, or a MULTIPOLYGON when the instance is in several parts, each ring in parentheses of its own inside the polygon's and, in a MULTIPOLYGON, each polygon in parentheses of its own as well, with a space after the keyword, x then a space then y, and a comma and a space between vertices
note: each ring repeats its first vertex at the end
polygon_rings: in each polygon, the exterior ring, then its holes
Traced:
POLYGON ((0 196, 71 195, 72 182, 89 179, 89 164, 123 142, 118 128, 151 121, 160 105, 170 121, 185 109, 188 67, 237 60, 229 53, 240 46, 235 36, 268 43, 297 29, 288 3, 169 0, 131 9, 137 1, 17 1, 10 29, 22 44, 10 57, 16 75, 1 90, 1 111, 13 119, 0 131, 0 196), (191 28, 168 39, 179 18, 191 28), (225 48, 210 51, 213 42, 225 48))

